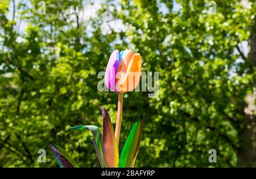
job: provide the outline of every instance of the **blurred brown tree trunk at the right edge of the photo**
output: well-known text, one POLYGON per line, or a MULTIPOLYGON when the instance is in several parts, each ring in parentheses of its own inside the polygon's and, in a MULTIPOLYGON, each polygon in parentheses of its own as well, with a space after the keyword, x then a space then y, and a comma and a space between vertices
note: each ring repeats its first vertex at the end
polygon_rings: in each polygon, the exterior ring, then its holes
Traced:
MULTIPOLYGON (((251 36, 249 39, 249 55, 251 73, 255 71, 256 65, 256 24, 255 20, 251 27, 251 36)), ((238 167, 256 167, 256 88, 255 79, 250 81, 253 93, 246 96, 245 120, 243 121, 243 130, 240 133, 241 147, 238 149, 238 167)))

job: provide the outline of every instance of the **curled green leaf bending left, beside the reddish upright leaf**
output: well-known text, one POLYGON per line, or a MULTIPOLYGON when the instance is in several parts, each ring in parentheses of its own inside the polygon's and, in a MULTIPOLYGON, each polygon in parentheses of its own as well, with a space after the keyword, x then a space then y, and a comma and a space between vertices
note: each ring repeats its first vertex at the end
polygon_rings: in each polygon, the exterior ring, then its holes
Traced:
POLYGON ((96 155, 98 157, 98 161, 100 161, 101 167, 102 168, 106 167, 106 164, 104 162, 104 157, 102 154, 100 129, 97 126, 93 126, 93 125, 71 127, 71 129, 73 130, 83 130, 85 128, 88 128, 93 134, 94 140, 92 142, 96 151, 96 155))

